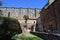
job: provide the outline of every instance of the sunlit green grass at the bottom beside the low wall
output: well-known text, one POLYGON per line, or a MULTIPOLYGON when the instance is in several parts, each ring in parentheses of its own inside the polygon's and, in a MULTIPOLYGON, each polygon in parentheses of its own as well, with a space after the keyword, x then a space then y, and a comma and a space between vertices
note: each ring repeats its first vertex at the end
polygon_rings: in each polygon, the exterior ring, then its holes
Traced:
POLYGON ((14 40, 43 40, 35 35, 32 35, 30 33, 21 33, 21 34, 16 34, 15 36, 12 37, 14 40))

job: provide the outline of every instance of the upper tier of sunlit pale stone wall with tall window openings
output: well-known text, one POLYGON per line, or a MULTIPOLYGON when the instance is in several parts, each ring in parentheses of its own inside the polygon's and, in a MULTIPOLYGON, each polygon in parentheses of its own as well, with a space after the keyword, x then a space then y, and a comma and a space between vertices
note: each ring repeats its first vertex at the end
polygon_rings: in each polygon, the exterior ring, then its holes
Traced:
POLYGON ((11 18, 23 19, 24 15, 28 15, 29 18, 35 19, 39 16, 40 9, 37 8, 0 8, 3 12, 3 16, 8 17, 10 12, 11 18))

